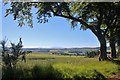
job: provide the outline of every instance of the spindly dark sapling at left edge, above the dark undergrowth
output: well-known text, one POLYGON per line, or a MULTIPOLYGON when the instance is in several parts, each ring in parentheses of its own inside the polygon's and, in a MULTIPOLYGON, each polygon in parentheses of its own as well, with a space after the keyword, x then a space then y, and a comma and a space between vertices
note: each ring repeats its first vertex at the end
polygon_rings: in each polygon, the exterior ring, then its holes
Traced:
POLYGON ((22 43, 21 38, 18 44, 14 44, 11 42, 11 47, 8 48, 6 46, 7 40, 2 40, 2 60, 5 66, 7 67, 14 67, 18 61, 18 57, 21 55, 22 52, 22 43))

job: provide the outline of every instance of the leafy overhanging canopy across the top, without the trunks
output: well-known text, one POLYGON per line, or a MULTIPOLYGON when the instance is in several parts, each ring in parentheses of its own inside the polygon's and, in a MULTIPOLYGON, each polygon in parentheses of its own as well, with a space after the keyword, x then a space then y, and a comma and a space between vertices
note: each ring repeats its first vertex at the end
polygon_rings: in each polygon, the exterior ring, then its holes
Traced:
MULTIPOLYGON (((69 19, 71 25, 76 27, 81 24, 82 29, 91 28, 93 31, 100 24, 118 25, 120 18, 119 3, 86 3, 86 2, 12 2, 11 8, 6 9, 6 15, 12 14, 14 20, 18 20, 20 27, 27 22, 28 26, 33 27, 32 8, 37 9, 38 23, 48 22, 48 18, 52 16, 60 16, 69 19), (99 24, 98 24, 99 23, 99 24)), ((96 28, 97 29, 97 28, 96 28)), ((99 29, 99 27, 98 27, 99 29)), ((105 29, 107 30, 107 29, 105 29)), ((107 32, 102 30, 103 33, 107 32)))

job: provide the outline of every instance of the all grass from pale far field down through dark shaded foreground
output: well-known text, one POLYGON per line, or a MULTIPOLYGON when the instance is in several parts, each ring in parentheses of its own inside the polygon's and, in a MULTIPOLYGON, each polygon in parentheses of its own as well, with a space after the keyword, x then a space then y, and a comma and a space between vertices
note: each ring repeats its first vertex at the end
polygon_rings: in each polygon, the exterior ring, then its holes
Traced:
POLYGON ((84 56, 31 53, 26 55, 26 63, 21 61, 21 56, 19 59, 13 72, 11 69, 5 70, 4 78, 13 76, 19 80, 104 80, 104 77, 120 73, 118 64, 100 62, 98 58, 84 56))

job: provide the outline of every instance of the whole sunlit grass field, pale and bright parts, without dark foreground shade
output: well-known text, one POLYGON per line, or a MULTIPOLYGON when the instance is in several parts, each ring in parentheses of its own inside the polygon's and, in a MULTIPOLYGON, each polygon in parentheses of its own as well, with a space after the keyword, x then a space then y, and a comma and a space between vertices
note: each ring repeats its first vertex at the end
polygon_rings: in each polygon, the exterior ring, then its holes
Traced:
MULTIPOLYGON (((61 73, 64 78, 72 79, 75 75, 94 77, 96 72, 109 77, 120 73, 120 65, 110 61, 98 61, 98 58, 86 58, 84 56, 64 56, 50 53, 32 53, 26 55, 26 63, 21 60, 17 67, 27 70, 28 73, 34 66, 45 67, 51 65, 61 73), (95 73, 95 74, 94 74, 95 73)), ((46 70, 43 70, 43 73, 46 70)), ((41 73, 42 74, 42 73, 41 73)), ((27 74, 28 76, 28 74, 27 74)))

